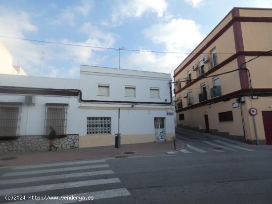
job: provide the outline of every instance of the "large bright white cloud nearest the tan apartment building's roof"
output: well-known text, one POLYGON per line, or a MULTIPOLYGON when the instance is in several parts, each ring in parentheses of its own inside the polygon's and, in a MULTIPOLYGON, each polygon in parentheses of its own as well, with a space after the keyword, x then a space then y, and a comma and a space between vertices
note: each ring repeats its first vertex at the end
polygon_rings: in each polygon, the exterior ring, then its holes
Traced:
POLYGON ((193 49, 203 39, 194 21, 181 18, 152 25, 144 29, 143 34, 154 43, 164 44, 167 51, 178 52, 193 49))

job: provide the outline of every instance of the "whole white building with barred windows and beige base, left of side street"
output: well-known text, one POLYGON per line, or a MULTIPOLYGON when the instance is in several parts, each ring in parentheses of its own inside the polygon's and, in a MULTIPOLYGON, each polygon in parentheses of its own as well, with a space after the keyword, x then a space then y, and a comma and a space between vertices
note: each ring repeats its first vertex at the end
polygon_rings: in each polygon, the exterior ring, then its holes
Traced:
POLYGON ((0 136, 79 135, 79 147, 175 136, 171 74, 81 66, 79 80, 0 74, 0 136))

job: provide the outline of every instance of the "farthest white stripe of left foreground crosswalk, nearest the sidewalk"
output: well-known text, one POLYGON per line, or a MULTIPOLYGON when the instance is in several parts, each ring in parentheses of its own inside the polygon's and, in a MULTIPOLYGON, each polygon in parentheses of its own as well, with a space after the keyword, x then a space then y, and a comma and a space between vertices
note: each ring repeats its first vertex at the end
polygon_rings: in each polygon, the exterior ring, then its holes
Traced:
POLYGON ((106 162, 106 161, 105 160, 90 160, 90 161, 64 162, 64 163, 43 163, 43 164, 35 164, 35 165, 15 166, 12 169, 43 168, 43 167, 52 167, 52 166, 78 165, 78 164, 101 163, 101 162, 106 162))

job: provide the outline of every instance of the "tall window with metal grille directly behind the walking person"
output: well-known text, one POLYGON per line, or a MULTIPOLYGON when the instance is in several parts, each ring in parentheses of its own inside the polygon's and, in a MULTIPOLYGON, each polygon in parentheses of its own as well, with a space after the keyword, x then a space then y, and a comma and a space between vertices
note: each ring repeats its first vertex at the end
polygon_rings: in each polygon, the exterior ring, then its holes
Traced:
POLYGON ((49 127, 56 130, 56 134, 66 134, 68 104, 46 103, 45 134, 49 134, 49 127))

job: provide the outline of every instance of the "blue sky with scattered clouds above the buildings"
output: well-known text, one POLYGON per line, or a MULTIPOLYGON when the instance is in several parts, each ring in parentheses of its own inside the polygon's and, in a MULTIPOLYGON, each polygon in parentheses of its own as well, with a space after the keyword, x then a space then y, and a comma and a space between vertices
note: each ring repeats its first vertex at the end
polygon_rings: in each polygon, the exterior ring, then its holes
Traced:
MULTIPOLYGON (((140 50, 121 49, 120 68, 173 75, 233 7, 271 8, 272 0, 0 0, 0 36, 140 50)), ((115 49, 0 41, 31 76, 79 79, 80 65, 119 68, 115 49)))

